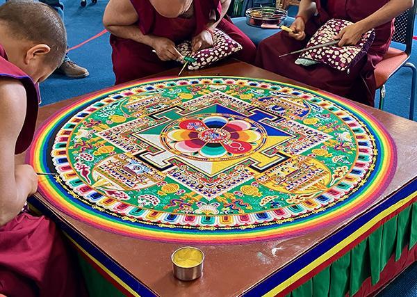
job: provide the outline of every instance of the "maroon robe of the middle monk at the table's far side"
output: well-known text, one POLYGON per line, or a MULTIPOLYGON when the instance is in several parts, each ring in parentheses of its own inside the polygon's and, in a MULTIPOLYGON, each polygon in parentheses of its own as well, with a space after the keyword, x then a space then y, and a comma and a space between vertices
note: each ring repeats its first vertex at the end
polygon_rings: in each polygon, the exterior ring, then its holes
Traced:
MULTIPOLYGON (((194 15, 191 19, 163 17, 156 12, 149 0, 131 0, 131 3, 138 13, 138 26, 143 34, 168 38, 176 44, 191 40, 193 36, 204 30, 210 20, 219 19, 221 13, 220 0, 194 0, 194 15)), ((243 50, 236 53, 235 58, 247 63, 254 62, 256 47, 245 33, 234 26, 229 19, 222 19, 218 29, 243 46, 243 50)), ((142 43, 118 38, 115 35, 111 35, 110 43, 113 48, 112 60, 116 83, 139 79, 179 66, 175 61, 161 61, 152 52, 152 47, 142 43)))

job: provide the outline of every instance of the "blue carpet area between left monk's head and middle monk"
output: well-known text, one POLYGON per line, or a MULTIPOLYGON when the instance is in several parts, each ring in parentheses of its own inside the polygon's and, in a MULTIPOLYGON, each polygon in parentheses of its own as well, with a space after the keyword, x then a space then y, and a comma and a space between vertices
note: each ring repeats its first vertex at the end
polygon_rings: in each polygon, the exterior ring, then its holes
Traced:
MULTIPOLYGON (((78 0, 63 1, 69 47, 78 45, 104 30, 101 17, 108 1, 98 0, 95 5, 88 1, 89 4, 85 8, 80 6, 78 0)), ((69 79, 63 75, 53 74, 40 86, 42 104, 51 104, 114 84, 108 36, 109 34, 106 33, 70 51, 71 60, 87 68, 90 76, 84 79, 69 79)))

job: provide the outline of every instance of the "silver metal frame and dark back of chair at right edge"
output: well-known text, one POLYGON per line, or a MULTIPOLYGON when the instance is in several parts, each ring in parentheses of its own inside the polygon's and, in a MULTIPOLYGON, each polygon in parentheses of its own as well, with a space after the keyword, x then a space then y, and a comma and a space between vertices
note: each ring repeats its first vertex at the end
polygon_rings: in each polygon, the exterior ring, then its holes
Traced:
MULTIPOLYGON (((404 53, 407 54, 407 60, 402 63, 390 76, 386 81, 388 81, 393 74, 398 72, 400 68, 407 67, 410 68, 412 71, 412 77, 411 77, 411 97, 410 97, 410 108, 409 108, 409 119, 414 120, 414 106, 416 102, 416 83, 417 83, 417 68, 416 65, 414 65, 409 61, 409 58, 411 56, 411 49, 413 46, 413 35, 414 35, 414 22, 416 17, 416 10, 417 10, 417 1, 414 1, 414 6, 412 8, 409 8, 408 10, 404 11, 401 15, 395 18, 394 27, 395 27, 395 33, 393 35, 393 41, 402 43, 405 45, 405 51, 404 53), (400 28, 401 23, 400 21, 402 19, 407 19, 407 27, 405 31, 403 30, 397 30, 400 28)), ((386 83, 386 82, 385 82, 386 83)), ((384 108, 384 101, 386 96, 386 89, 385 89, 385 83, 379 88, 379 109, 384 108)))

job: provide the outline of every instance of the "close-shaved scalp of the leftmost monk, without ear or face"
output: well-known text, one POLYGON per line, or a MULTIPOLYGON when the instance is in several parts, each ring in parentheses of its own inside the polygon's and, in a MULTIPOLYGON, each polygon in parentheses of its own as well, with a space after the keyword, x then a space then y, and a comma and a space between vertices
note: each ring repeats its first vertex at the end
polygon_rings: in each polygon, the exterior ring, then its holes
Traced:
POLYGON ((51 51, 45 58, 50 65, 56 67, 63 62, 67 51, 65 26, 58 13, 46 4, 8 1, 0 6, 0 22, 16 39, 48 45, 51 51))

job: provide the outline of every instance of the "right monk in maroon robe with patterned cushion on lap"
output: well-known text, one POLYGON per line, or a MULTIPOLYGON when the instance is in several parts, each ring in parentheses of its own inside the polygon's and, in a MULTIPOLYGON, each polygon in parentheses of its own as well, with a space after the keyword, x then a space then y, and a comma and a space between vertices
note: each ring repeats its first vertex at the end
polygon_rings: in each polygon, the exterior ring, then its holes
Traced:
POLYGON ((256 54, 256 65, 373 106, 375 65, 389 48, 393 19, 411 6, 413 0, 301 0, 298 15, 291 26, 294 33, 282 31, 263 40, 256 54), (316 12, 318 15, 315 17, 316 12), (308 67, 295 65, 297 54, 278 58, 281 54, 304 48, 318 28, 332 18, 354 23, 335 36, 335 39, 340 39, 339 46, 356 45, 363 33, 375 29, 376 37, 368 54, 350 68, 350 73, 322 64, 308 67))

